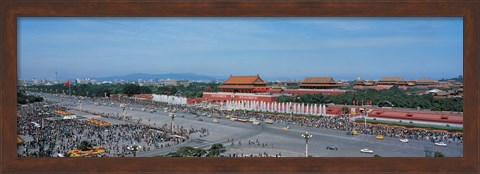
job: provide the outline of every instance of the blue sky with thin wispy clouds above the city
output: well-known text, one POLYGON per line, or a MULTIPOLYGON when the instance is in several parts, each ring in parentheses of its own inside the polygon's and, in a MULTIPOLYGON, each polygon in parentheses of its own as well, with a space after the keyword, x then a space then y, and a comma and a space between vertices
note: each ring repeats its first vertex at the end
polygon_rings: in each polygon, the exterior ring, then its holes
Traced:
POLYGON ((462 18, 39 18, 18 22, 19 78, 130 73, 265 79, 463 74, 462 18))

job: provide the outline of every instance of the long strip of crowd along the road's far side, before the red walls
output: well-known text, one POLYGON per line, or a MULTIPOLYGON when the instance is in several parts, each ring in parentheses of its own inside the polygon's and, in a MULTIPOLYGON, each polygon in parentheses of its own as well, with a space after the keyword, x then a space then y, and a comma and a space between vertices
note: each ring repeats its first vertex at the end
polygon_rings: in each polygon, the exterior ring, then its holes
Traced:
POLYGON ((463 143, 462 132, 448 132, 436 131, 426 129, 415 129, 400 126, 389 126, 383 124, 367 124, 364 125, 356 123, 351 120, 348 115, 325 116, 325 117, 305 117, 305 116, 291 116, 289 114, 269 114, 260 112, 245 112, 245 111, 228 111, 218 110, 205 107, 186 107, 186 106, 172 106, 178 107, 179 110, 186 110, 194 114, 207 114, 217 117, 224 115, 231 115, 238 118, 255 118, 257 120, 265 121, 267 119, 273 120, 277 124, 297 125, 305 127, 326 128, 339 131, 353 131, 367 135, 383 135, 395 138, 408 138, 415 140, 428 140, 432 142, 448 143, 463 143))

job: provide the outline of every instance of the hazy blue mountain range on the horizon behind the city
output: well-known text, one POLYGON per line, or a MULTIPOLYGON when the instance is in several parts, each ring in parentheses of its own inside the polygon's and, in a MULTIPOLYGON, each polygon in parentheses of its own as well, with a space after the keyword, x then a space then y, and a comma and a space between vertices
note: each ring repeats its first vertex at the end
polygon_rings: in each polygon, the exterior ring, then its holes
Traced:
MULTIPOLYGON (((126 80, 126 81, 136 81, 138 79, 142 80, 160 80, 160 79, 175 79, 175 80, 222 80, 222 77, 212 77, 207 75, 200 75, 195 73, 167 73, 167 74, 146 74, 146 73, 134 73, 127 74, 122 76, 110 76, 110 77, 98 77, 92 78, 97 81, 115 81, 115 80, 126 80)), ((224 79, 223 79, 224 80, 224 79)))

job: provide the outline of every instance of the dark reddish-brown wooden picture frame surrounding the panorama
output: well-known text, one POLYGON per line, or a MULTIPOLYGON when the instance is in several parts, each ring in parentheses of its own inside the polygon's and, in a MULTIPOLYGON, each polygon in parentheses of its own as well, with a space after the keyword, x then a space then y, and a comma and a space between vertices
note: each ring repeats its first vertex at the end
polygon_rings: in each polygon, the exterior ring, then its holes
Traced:
POLYGON ((0 173, 479 172, 479 1, 2 0, 0 173), (464 157, 461 158, 17 158, 18 17, 463 17, 464 157))

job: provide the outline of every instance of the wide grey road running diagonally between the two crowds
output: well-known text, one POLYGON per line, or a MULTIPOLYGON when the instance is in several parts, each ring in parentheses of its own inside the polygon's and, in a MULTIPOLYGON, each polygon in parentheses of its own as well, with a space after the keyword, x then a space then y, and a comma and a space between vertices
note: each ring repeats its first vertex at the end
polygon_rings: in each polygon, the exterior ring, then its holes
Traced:
MULTIPOLYGON (((97 113, 112 113, 123 115, 119 103, 110 107, 104 105, 95 106, 91 99, 83 100, 79 103, 79 99, 60 98, 50 94, 43 94, 48 101, 55 101, 68 106, 72 110, 84 110, 97 113), (63 99, 63 101, 62 101, 63 99)), ((98 101, 98 99, 97 99, 98 101)), ((101 103, 101 102, 100 102, 101 103)), ((140 124, 159 127, 165 123, 170 124, 171 118, 163 108, 158 108, 158 112, 149 113, 141 111, 141 105, 128 105, 126 115, 133 119, 141 119, 140 124), (130 110, 133 108, 133 110, 130 110), (150 120, 150 121, 149 121, 150 120), (154 125, 155 124, 155 125, 154 125)), ((148 110, 147 110, 148 111, 148 110)), ((83 112, 75 111, 75 114, 83 112)), ((88 115, 83 113, 84 115, 88 115)), ((260 125, 253 125, 251 122, 238 122, 229 119, 220 119, 219 123, 214 123, 213 118, 205 116, 200 117, 203 121, 199 121, 194 115, 184 112, 177 112, 174 125, 180 125, 186 128, 191 126, 195 128, 206 128, 209 135, 200 137, 199 133, 193 134, 191 140, 169 148, 156 151, 139 152, 137 156, 158 156, 175 151, 181 146, 192 146, 207 149, 211 144, 223 143, 227 147, 227 152, 223 155, 229 156, 263 154, 281 155, 287 157, 305 156, 305 139, 301 134, 308 131, 313 135, 309 140, 309 155, 314 157, 372 157, 378 154, 382 157, 424 157, 425 148, 441 151, 446 157, 462 157, 463 144, 450 143, 447 147, 435 146, 430 141, 410 140, 408 143, 402 143, 398 138, 385 137, 383 140, 375 139, 373 135, 346 135, 345 131, 337 131, 326 128, 312 128, 303 126, 290 126, 288 130, 284 130, 283 124, 267 124, 262 122, 260 125), (232 139, 232 141, 227 141, 232 139), (255 144, 249 144, 255 142, 255 144), (258 144, 256 143, 258 140, 258 144), (327 150, 327 146, 334 146, 338 150, 327 150), (368 148, 374 151, 373 154, 360 153, 360 149, 368 148)), ((98 119, 107 119, 99 117, 98 119)), ((123 122, 120 120, 105 120, 109 122, 123 122)))

